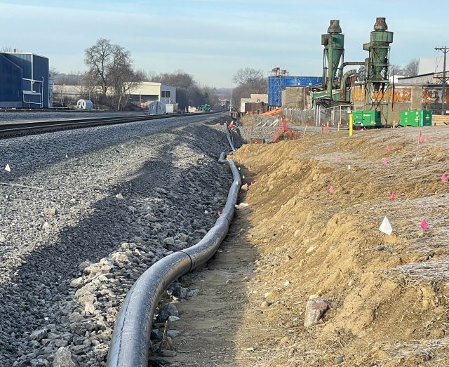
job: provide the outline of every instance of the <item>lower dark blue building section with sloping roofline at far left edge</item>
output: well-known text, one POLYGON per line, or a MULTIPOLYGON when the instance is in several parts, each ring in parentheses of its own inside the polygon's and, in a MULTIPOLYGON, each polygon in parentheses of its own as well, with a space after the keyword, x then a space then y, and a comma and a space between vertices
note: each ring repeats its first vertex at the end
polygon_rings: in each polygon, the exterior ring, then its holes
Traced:
POLYGON ((0 107, 22 107, 22 69, 0 53, 0 107))

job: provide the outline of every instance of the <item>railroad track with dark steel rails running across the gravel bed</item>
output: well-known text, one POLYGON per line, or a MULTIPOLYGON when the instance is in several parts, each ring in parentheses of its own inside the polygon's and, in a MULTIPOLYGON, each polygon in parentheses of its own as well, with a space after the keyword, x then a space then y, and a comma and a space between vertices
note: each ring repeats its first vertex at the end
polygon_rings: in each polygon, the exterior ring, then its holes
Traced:
POLYGON ((198 114, 210 114, 216 112, 203 112, 195 114, 162 114, 145 116, 123 116, 123 117, 102 117, 95 119, 70 119, 60 121, 39 121, 20 124, 0 125, 0 138, 14 138, 22 135, 33 135, 50 133, 52 131, 69 130, 74 128, 88 128, 93 126, 104 126, 114 124, 126 124, 136 121, 147 121, 154 119, 168 119, 181 116, 193 116, 198 114))

